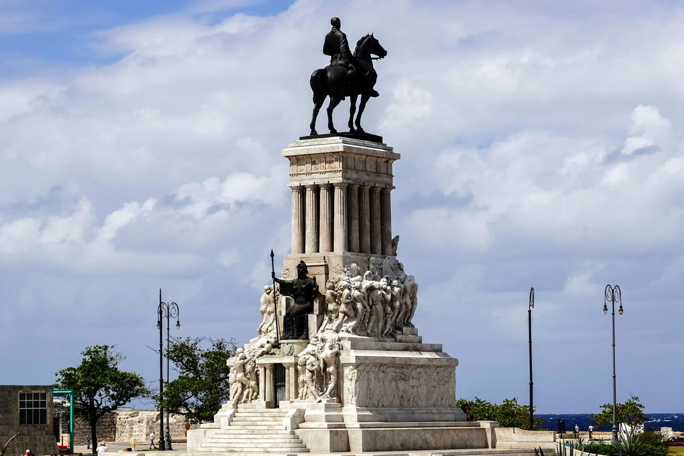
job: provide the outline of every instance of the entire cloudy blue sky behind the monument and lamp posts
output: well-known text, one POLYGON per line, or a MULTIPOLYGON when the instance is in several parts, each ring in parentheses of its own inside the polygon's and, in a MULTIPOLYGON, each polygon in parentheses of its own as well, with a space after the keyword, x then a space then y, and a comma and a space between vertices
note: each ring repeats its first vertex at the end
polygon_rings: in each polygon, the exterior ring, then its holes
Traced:
POLYGON ((331 16, 389 51, 364 122, 458 396, 527 402, 534 286, 537 410, 596 412, 610 283, 618 400, 681 412, 684 11, 653 1, 3 2, 0 382, 105 343, 153 381, 159 288, 176 334, 254 337, 331 16))

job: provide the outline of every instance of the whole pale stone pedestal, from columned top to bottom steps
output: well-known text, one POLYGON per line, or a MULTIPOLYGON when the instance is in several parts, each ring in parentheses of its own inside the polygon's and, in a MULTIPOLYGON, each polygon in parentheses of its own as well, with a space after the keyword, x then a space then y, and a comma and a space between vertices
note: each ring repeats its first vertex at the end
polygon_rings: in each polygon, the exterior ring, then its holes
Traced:
MULTIPOLYGON (((316 279, 321 295, 308 315, 310 340, 278 347, 266 333, 240 349, 228 365, 235 394, 241 384, 245 393, 215 416, 220 426, 188 434, 188 451, 491 448, 496 423, 467 423, 456 406, 458 360, 440 344, 423 343, 411 323, 418 285, 392 245, 399 154, 385 144, 326 137, 297 141, 282 155, 293 204, 282 278, 296 278, 304 260, 316 279)), ((282 315, 292 299, 279 301, 282 315)))

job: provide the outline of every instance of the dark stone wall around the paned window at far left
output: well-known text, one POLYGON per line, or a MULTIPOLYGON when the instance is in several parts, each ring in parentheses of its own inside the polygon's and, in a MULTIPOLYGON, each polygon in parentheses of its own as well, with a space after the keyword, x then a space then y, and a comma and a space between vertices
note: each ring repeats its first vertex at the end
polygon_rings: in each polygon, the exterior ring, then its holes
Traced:
POLYGON ((20 456, 31 450, 36 455, 57 453, 53 433, 52 385, 0 385, 0 446, 21 432, 8 445, 5 456, 20 456), (47 397, 47 422, 44 425, 19 424, 19 392, 44 392, 47 397))

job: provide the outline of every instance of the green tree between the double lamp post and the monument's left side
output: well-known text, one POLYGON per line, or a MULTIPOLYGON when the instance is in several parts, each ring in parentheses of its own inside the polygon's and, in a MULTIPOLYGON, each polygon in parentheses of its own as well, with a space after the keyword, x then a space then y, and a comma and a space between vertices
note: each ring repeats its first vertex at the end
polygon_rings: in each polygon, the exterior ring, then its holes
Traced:
POLYGON ((235 349, 233 339, 171 338, 166 354, 179 377, 165 383, 163 400, 159 394, 152 397, 157 406, 170 413, 185 414, 189 423, 213 422, 213 416, 230 396, 231 368, 226 366, 226 360, 235 349), (205 340, 210 344, 206 349, 205 340))

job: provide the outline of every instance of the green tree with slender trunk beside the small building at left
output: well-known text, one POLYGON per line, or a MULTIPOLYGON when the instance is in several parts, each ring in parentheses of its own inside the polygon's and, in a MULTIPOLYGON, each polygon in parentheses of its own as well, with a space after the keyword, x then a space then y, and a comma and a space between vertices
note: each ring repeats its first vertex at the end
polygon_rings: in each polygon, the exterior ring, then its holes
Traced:
POLYGON ((74 390, 74 414, 90 424, 94 449, 97 420, 133 398, 148 396, 150 390, 140 375, 119 370, 119 362, 126 357, 116 350, 116 345, 94 345, 81 351, 81 355, 81 364, 55 373, 55 388, 74 390))

